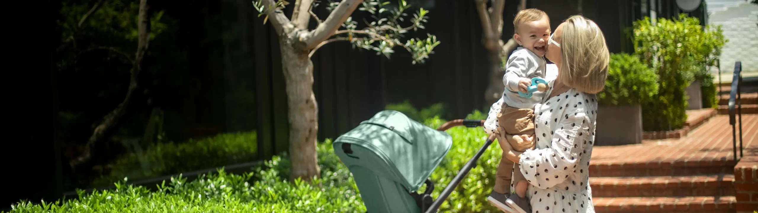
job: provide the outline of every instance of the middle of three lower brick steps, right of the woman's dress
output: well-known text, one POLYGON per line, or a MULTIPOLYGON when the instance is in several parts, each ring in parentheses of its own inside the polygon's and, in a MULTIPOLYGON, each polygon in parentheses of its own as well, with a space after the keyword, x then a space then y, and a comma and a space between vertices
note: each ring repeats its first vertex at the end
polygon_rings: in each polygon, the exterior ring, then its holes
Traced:
POLYGON ((593 197, 735 196, 733 174, 590 177, 593 197))

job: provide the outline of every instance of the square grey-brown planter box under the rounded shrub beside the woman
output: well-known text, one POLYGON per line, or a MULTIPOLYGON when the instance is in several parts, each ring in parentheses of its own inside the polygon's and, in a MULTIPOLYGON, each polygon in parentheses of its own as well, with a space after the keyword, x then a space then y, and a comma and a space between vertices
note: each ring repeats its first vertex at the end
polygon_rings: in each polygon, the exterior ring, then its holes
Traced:
POLYGON ((642 143, 641 105, 599 105, 595 146, 642 143))

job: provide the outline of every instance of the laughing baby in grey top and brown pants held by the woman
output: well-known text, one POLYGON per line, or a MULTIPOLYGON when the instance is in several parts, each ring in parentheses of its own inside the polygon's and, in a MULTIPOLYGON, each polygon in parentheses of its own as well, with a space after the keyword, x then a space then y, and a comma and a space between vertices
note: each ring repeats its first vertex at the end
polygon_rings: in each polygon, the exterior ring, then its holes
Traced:
MULTIPOLYGON (((513 19, 515 34, 513 39, 522 45, 522 49, 513 52, 506 64, 506 74, 503 76, 503 102, 496 102, 490 108, 484 130, 489 134, 505 130, 513 140, 510 141, 513 151, 524 152, 533 149, 534 142, 534 105, 541 102, 544 92, 534 92, 526 99, 518 95, 518 91, 527 92, 531 86, 531 78, 545 77, 546 64, 543 56, 547 50, 547 39, 550 36, 550 18, 545 12, 537 9, 518 11, 513 19), (502 128, 501 128, 502 127, 502 128), (524 136, 524 137, 522 137, 524 136)), ((529 183, 524 179, 518 164, 508 160, 503 150, 500 165, 497 168, 495 188, 487 197, 487 201, 506 211, 506 201, 511 200, 519 212, 531 212, 531 205, 525 199, 529 183), (515 172, 513 172, 515 171, 515 172), (513 175, 513 177, 511 177, 513 175), (511 178, 515 180, 515 192, 510 192, 511 178), (513 196, 515 193, 517 196, 513 196)))

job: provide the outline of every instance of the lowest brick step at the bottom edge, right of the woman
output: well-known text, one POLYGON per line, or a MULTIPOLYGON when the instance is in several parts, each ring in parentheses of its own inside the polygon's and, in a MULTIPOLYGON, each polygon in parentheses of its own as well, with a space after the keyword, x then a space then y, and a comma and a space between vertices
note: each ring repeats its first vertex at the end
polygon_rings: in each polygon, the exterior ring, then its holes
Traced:
MULTIPOLYGON (((594 194, 593 194, 594 196, 594 194)), ((598 213, 735 212, 734 196, 593 198, 598 213)))

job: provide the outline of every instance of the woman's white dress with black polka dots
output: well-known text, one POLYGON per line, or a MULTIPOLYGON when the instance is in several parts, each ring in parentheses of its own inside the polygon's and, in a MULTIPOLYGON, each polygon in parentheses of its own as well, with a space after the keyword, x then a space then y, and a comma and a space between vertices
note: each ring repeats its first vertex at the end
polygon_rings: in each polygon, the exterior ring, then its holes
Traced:
POLYGON ((597 97, 569 89, 543 100, 534 114, 537 149, 527 150, 519 161, 522 174, 531 183, 527 196, 532 212, 595 212, 588 168, 597 97))

